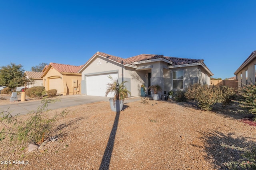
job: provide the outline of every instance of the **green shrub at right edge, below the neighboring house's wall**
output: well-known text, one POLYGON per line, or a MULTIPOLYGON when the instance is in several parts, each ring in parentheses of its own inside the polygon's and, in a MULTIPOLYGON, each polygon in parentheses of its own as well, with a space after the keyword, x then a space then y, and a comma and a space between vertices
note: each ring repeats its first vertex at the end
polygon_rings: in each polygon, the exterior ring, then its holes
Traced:
MULTIPOLYGON (((239 89, 240 107, 247 109, 249 113, 256 115, 256 84, 248 84, 239 89)), ((256 117, 254 116, 254 121, 256 117)))

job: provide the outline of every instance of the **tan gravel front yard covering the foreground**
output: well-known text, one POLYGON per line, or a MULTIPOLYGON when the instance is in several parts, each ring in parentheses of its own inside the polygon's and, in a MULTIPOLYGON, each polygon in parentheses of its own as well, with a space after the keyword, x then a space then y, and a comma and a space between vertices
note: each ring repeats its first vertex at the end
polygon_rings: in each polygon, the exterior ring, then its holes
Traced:
POLYGON ((1 163, 11 164, 0 169, 225 169, 225 162, 240 158, 227 146, 256 144, 256 127, 241 122, 244 114, 231 108, 202 111, 172 100, 131 102, 120 113, 109 102, 68 107, 70 114, 52 131, 56 140, 42 149, 28 153, 27 143, 2 141, 1 163))

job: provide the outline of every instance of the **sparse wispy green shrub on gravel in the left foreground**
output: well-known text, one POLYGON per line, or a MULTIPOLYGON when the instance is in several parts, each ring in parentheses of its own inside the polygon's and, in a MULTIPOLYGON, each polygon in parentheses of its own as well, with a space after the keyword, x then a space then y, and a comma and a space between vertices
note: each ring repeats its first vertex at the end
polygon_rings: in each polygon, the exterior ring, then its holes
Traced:
POLYGON ((47 115, 48 103, 59 101, 45 98, 42 100, 42 106, 39 106, 37 111, 31 111, 28 119, 20 119, 19 115, 11 115, 8 111, 0 112, 0 123, 4 125, 0 131, 0 141, 9 136, 10 141, 13 139, 18 142, 34 142, 41 143, 49 137, 54 122, 60 117, 68 114, 68 111, 63 110, 57 113, 52 118, 47 115))

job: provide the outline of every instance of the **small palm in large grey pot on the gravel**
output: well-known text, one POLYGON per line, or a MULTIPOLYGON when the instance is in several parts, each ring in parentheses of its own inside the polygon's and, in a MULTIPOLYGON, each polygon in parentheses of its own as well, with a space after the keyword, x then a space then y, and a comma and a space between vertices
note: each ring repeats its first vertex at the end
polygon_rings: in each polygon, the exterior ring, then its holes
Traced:
POLYGON ((118 82, 118 78, 116 80, 112 78, 112 76, 108 76, 112 80, 111 83, 107 84, 107 89, 105 93, 105 97, 108 96, 109 93, 114 93, 114 98, 110 98, 110 108, 112 111, 119 112, 123 109, 124 99, 128 97, 128 94, 131 95, 131 92, 126 89, 125 83, 127 81, 123 81, 121 83, 118 82))

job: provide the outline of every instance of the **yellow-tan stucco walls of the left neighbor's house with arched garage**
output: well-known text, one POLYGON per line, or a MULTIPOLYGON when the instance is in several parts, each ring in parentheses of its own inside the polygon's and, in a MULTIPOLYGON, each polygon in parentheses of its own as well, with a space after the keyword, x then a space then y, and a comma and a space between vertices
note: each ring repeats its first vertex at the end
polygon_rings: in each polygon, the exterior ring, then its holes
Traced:
POLYGON ((61 77, 60 93, 63 95, 80 94, 81 75, 61 74, 53 67, 43 77, 43 85, 49 90, 49 78, 61 77), (76 83, 73 83, 73 80, 76 83), (75 84, 76 87, 73 87, 75 84), (75 90, 76 88, 76 90, 75 90))

